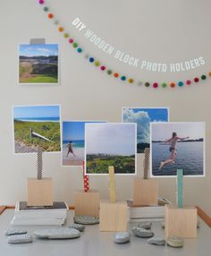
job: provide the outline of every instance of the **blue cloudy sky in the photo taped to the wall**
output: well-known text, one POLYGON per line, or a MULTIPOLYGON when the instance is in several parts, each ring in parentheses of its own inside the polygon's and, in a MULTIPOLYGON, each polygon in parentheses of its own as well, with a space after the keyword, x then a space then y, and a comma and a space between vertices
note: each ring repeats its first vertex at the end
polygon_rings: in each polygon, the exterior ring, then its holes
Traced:
POLYGON ((58 55, 58 45, 56 44, 20 45, 19 55, 29 56, 29 57, 58 55))

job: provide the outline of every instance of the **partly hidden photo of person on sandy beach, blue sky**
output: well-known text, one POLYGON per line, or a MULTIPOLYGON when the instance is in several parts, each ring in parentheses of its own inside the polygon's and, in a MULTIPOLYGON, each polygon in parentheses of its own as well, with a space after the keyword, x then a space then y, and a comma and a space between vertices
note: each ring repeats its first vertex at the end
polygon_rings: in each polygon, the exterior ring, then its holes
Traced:
POLYGON ((62 165, 82 166, 84 163, 85 124, 97 121, 63 121, 62 165))

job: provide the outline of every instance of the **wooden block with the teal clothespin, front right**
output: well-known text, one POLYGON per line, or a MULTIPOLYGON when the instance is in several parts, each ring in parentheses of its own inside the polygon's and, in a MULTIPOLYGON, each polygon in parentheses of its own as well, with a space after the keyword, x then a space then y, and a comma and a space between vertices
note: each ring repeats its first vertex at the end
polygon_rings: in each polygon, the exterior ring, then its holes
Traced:
POLYGON ((194 207, 177 208, 165 206, 165 237, 197 237, 197 209, 194 207))

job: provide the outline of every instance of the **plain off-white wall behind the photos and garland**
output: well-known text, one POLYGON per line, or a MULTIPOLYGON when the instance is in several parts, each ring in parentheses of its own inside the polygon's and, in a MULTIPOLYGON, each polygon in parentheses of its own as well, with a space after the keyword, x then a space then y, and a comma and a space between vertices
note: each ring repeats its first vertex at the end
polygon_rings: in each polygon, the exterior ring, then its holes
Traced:
MULTIPOLYGON (((78 38, 87 52, 105 60, 116 71, 146 81, 178 81, 209 72, 211 2, 203 1, 47 1, 53 13, 78 38), (185 61, 202 55, 206 64, 186 73, 141 72, 122 64, 91 44, 72 27, 80 17, 98 36, 116 49, 152 62, 185 61)), ((37 1, 0 1, 0 204, 26 199, 26 179, 36 176, 36 156, 13 154, 14 105, 61 104, 63 120, 100 119, 121 121, 122 107, 170 107, 171 121, 205 121, 207 125, 205 178, 185 178, 185 202, 199 205, 211 214, 211 120, 208 114, 211 80, 177 89, 146 89, 115 81, 88 64, 57 32, 37 1), (17 84, 17 46, 30 38, 46 38, 61 47, 60 86, 20 86, 17 84)), ((138 159, 139 175, 143 156, 138 159)), ((73 192, 82 188, 80 168, 63 168, 60 154, 44 156, 44 173, 55 183, 55 200, 73 201, 73 192)), ((132 177, 116 177, 118 197, 130 198, 132 177)), ((91 187, 107 197, 107 178, 91 177, 91 187)), ((160 195, 175 200, 175 179, 159 180, 160 195)))

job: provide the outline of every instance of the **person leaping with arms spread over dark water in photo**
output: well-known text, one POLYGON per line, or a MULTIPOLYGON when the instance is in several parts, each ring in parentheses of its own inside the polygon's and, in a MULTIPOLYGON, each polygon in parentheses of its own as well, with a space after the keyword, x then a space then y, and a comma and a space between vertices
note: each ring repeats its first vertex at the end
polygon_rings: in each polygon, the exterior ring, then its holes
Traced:
POLYGON ((176 155, 177 155, 177 149, 176 149, 177 141, 185 141, 187 139, 189 139, 189 137, 180 138, 180 137, 177 136, 176 132, 173 132, 172 138, 165 141, 165 143, 170 144, 169 151, 171 153, 171 156, 170 156, 170 158, 166 159, 165 161, 160 162, 159 170, 161 170, 165 165, 171 165, 171 164, 174 163, 174 160, 175 160, 176 155))

